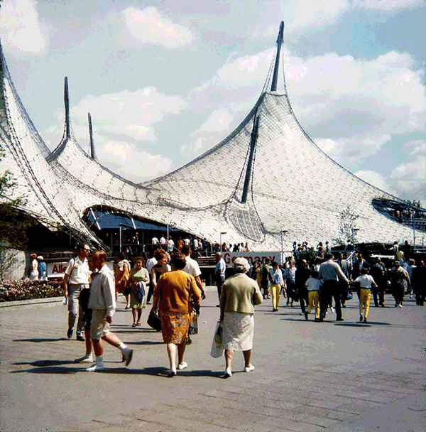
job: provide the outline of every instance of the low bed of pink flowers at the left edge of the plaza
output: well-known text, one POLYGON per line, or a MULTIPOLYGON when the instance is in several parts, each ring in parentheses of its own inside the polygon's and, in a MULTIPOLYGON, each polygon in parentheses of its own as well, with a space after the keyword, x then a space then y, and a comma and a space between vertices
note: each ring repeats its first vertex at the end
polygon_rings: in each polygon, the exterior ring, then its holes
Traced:
POLYGON ((60 281, 0 281, 0 302, 63 296, 60 281))

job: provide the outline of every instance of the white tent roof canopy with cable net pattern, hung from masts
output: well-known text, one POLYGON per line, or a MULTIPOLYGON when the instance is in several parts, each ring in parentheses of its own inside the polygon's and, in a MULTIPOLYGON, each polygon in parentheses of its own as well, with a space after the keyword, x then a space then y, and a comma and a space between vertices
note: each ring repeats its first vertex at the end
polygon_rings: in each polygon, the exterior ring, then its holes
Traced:
POLYGON ((283 77, 277 91, 267 90, 277 59, 261 96, 235 131, 182 168, 138 185, 84 152, 69 118, 60 144, 50 152, 21 104, 1 53, 0 136, 6 154, 0 169, 13 174, 14 195, 26 197, 23 210, 92 243, 101 242, 82 215, 94 205, 173 222, 210 242, 226 232, 227 242, 250 240, 252 250, 279 250, 282 229, 291 236, 285 248, 294 239, 331 240, 346 206, 359 215, 359 241, 412 238, 412 229, 371 205, 375 198, 398 198, 356 178, 305 134, 288 99, 283 62, 276 68, 283 77))

